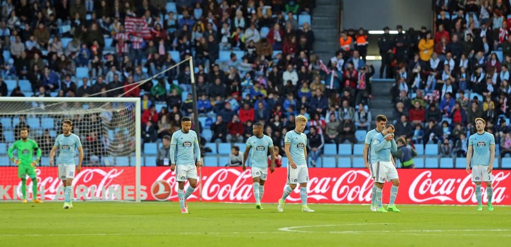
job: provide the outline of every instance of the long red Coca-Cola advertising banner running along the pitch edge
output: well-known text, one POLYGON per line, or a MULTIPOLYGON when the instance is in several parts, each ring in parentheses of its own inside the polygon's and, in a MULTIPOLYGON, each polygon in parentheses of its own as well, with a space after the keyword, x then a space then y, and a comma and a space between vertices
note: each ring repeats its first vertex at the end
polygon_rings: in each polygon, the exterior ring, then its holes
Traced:
MULTIPOLYGON (((19 199, 21 182, 16 167, 0 168, 0 200, 19 199), (6 176, 12 174, 10 176, 6 176)), ((143 200, 177 200, 175 173, 166 167, 141 168, 141 197, 143 200)), ((202 168, 202 200, 234 203, 254 203, 250 170, 241 168, 202 168)), ((474 185, 470 174, 463 170, 404 169, 398 170, 400 188, 397 204, 475 204, 474 185)), ((268 174, 263 203, 276 203, 286 183, 286 168, 276 168, 268 174)), ((511 205, 511 170, 494 170, 493 203, 511 205)), ((57 168, 37 169, 39 194, 45 200, 63 199, 63 188, 57 177, 57 168)), ((368 204, 373 180, 365 169, 309 168, 309 203, 368 204)), ((30 181, 30 179, 28 180, 30 181)), ((31 182, 27 193, 31 197, 31 182)), ((78 200, 134 200, 135 168, 90 167, 76 175, 75 198, 78 200)), ((187 185, 188 186, 188 185, 187 185)), ((483 188, 483 203, 487 197, 483 188)), ((388 201, 390 183, 384 188, 384 202, 388 201)), ((189 200, 197 200, 199 190, 189 200)), ((287 201, 299 203, 299 189, 287 201)))

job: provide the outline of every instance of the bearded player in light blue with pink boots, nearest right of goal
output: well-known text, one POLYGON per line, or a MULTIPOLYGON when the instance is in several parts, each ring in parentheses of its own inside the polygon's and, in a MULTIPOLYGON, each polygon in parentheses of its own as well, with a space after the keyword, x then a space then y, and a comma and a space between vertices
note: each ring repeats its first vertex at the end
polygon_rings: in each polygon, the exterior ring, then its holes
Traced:
POLYGON ((178 182, 177 196, 181 213, 188 213, 186 199, 194 192, 197 187, 197 169, 195 168, 194 150, 197 156, 197 166, 201 166, 200 149, 197 133, 190 130, 192 128, 192 119, 189 117, 181 118, 181 129, 172 134, 170 141, 170 170, 176 171, 176 181, 178 182), (184 192, 184 182, 188 179, 190 186, 184 192))

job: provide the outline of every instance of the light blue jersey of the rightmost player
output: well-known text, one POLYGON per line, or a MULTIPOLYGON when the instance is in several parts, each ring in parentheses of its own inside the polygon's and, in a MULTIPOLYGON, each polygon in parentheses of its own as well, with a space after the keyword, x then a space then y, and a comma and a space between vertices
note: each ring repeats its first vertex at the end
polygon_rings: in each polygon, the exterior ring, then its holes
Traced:
POLYGON ((473 147, 471 165, 490 165, 490 145, 495 145, 495 137, 493 134, 484 132, 482 134, 475 133, 469 138, 469 146, 473 147))

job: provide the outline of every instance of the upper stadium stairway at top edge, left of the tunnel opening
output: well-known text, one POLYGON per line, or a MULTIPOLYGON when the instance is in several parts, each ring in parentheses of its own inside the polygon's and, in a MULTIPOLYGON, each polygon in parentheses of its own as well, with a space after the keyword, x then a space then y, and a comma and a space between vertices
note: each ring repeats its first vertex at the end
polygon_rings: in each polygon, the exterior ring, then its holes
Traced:
POLYGON ((339 49, 339 33, 337 30, 337 16, 339 15, 339 2, 332 0, 317 0, 312 19, 312 31, 314 31, 314 53, 325 64, 335 51, 339 49))

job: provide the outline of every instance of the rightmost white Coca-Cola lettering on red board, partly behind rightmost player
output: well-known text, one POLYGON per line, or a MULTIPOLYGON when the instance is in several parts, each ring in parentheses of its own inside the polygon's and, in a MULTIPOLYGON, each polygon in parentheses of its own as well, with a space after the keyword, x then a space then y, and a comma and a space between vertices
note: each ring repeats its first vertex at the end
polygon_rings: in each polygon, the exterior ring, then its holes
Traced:
MULTIPOLYGON (((509 172, 498 172, 494 176, 493 180, 493 202, 501 203, 505 198, 506 187, 501 187, 499 184, 504 181, 508 176, 509 172)), ((445 202, 457 202, 466 203, 475 199, 475 189, 471 182, 471 175, 467 175, 464 178, 431 178, 431 171, 424 171, 417 175, 413 182, 410 184, 408 190, 408 196, 415 203, 437 203, 438 200, 441 203, 445 202)), ((485 190, 485 188, 484 188, 485 190)), ((484 192, 484 191, 483 191, 484 192)), ((487 201, 486 193, 483 193, 483 201, 487 201)))

